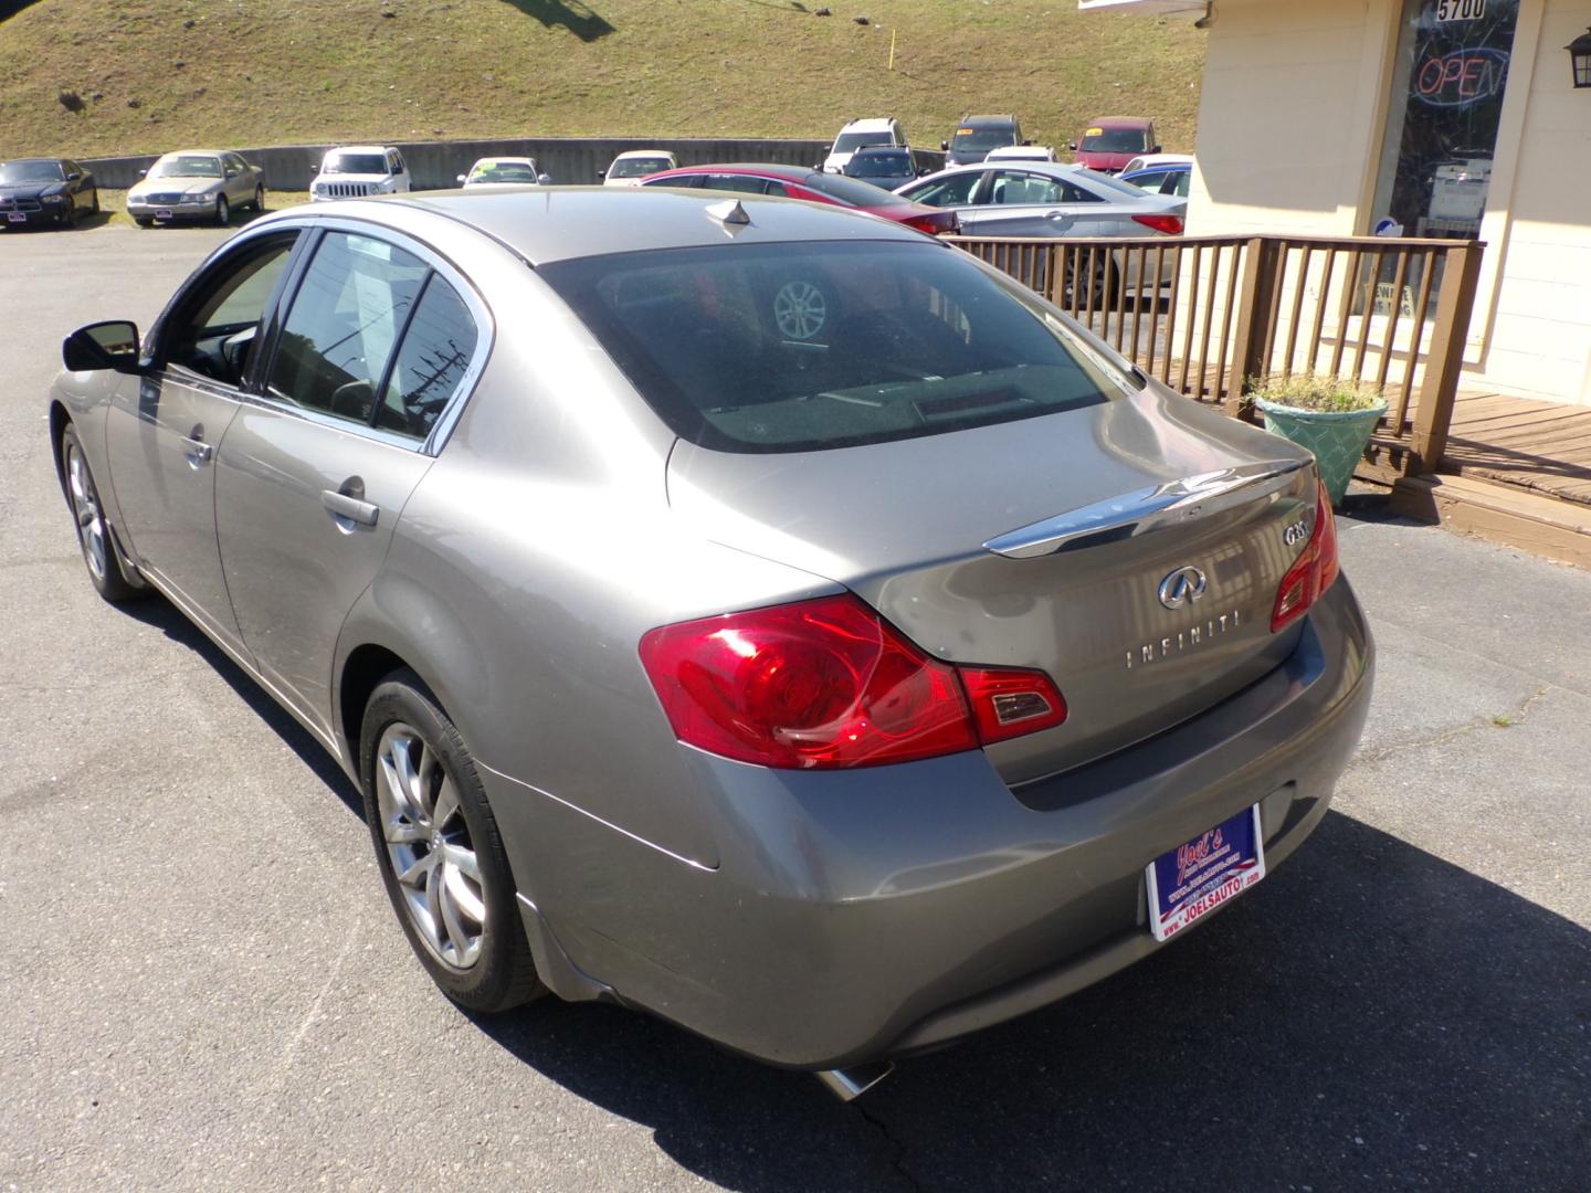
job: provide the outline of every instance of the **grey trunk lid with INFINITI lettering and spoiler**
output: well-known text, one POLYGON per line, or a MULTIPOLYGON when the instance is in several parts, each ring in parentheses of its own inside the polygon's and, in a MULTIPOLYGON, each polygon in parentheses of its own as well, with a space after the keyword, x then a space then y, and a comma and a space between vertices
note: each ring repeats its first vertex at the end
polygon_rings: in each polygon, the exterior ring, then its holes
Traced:
POLYGON ((1308 453, 1163 391, 827 452, 681 442, 668 487, 703 536, 846 585, 937 659, 1047 671, 1068 721, 988 749, 1013 784, 1196 716, 1300 633, 1270 616, 1308 453))

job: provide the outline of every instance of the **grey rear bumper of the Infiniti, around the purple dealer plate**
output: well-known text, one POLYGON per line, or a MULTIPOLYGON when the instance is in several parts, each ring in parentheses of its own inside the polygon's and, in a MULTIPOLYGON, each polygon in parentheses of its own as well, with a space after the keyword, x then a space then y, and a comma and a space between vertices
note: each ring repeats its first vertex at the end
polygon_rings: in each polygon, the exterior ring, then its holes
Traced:
POLYGON ((799 773, 690 751, 716 869, 501 776, 488 792, 527 899, 582 973, 738 1051, 831 1069, 937 1047, 1147 956, 1144 867, 1247 805, 1279 864, 1325 814, 1371 679, 1343 581, 1266 679, 1018 791, 982 752, 799 773))

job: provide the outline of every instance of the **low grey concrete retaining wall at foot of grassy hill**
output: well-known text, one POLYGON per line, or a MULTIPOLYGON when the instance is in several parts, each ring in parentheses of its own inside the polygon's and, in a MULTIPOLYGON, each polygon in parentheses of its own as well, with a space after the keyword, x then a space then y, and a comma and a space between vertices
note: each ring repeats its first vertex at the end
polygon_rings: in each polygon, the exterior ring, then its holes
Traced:
MULTIPOLYGON (((673 150, 681 165, 708 162, 780 162, 811 165, 823 159, 827 142, 802 140, 635 140, 539 137, 479 142, 393 142, 409 162, 417 191, 449 188, 479 157, 535 157, 555 183, 597 183, 598 170, 624 150, 673 150)), ((266 186, 275 191, 307 191, 320 159, 333 145, 275 145, 239 150, 245 161, 266 170, 266 186)), ((923 165, 943 164, 943 154, 918 153, 923 165)), ((138 181, 138 170, 154 162, 140 157, 80 157, 102 186, 124 189, 138 181)))

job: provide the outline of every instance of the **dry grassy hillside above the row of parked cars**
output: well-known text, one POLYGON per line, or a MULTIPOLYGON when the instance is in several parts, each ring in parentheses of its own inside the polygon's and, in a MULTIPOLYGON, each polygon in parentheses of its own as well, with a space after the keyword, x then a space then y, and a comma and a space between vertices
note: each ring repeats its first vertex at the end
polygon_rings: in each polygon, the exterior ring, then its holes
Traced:
POLYGON ((885 113, 937 146, 966 111, 1015 111, 1060 146, 1091 116, 1147 115, 1168 150, 1192 148, 1204 41, 1185 19, 1083 16, 1072 0, 826 2, 827 17, 824 0, 11 0, 0 157, 827 138, 885 113))

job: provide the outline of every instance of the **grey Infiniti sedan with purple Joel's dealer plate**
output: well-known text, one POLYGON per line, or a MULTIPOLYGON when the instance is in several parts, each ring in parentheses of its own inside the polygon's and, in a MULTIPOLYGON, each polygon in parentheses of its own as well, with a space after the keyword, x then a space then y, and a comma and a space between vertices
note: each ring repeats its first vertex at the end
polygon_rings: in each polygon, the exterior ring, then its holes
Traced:
POLYGON ((1306 453, 854 212, 298 208, 64 356, 89 579, 337 759, 468 1008, 854 1094, 1263 899, 1370 700, 1306 453))

